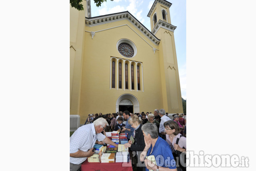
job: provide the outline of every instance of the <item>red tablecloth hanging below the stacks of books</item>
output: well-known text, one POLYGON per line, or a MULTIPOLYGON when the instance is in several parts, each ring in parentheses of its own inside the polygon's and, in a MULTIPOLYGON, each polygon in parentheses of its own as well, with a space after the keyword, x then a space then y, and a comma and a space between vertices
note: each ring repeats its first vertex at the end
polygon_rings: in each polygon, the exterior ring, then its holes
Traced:
POLYGON ((81 165, 81 171, 133 171, 129 163, 89 163, 88 159, 81 165))

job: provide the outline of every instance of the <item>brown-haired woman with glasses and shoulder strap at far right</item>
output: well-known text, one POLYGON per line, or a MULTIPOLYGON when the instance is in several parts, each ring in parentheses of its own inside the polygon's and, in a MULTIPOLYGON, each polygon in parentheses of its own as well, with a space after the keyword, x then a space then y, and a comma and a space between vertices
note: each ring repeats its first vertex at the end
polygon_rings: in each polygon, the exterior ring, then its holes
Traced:
MULTIPOLYGON (((178 150, 180 152, 186 152, 187 138, 180 134, 181 130, 180 130, 179 125, 177 124, 177 122, 174 122, 174 121, 171 121, 171 120, 169 120, 167 122, 164 122, 164 128, 165 128, 165 131, 166 131, 166 134, 167 134, 166 135, 166 141, 172 149, 173 156, 174 157, 176 156, 175 150, 178 150), (179 141, 178 141, 178 144, 176 144, 178 138, 179 138, 179 141)), ((186 170, 185 165, 180 164, 180 160, 179 160, 179 165, 180 165, 182 171, 186 170)))

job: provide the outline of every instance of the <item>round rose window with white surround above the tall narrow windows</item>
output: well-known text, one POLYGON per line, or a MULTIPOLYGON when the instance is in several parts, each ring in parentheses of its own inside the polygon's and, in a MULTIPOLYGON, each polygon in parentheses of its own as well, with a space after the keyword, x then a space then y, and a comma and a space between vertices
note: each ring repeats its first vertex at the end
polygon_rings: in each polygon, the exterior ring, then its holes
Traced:
POLYGON ((128 39, 121 39, 117 42, 118 52, 126 58, 132 58, 137 54, 135 44, 128 39))

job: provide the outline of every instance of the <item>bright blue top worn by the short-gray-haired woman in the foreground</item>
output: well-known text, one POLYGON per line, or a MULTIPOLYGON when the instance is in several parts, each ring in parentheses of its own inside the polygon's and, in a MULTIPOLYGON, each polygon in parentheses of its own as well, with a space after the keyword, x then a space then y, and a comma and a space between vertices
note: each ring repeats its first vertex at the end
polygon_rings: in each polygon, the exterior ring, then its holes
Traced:
MULTIPOLYGON (((171 147, 164 139, 158 136, 152 152, 151 150, 152 144, 148 149, 147 156, 154 155, 156 159, 156 165, 160 167, 168 167, 170 169, 176 168, 176 162, 173 158, 171 147)), ((146 171, 149 170, 146 168, 146 171)))

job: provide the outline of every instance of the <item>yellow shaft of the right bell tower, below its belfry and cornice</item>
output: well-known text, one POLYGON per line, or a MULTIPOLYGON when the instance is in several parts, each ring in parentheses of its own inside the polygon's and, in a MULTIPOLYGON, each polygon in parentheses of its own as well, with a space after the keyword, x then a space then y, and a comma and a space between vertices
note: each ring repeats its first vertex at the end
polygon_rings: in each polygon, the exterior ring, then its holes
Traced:
POLYGON ((183 113, 174 34, 160 28, 156 37, 161 39, 159 59, 164 109, 169 113, 183 113))

